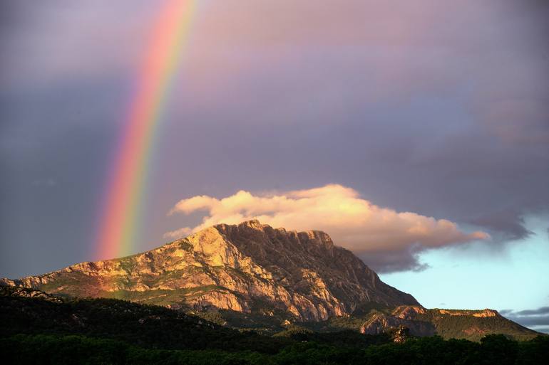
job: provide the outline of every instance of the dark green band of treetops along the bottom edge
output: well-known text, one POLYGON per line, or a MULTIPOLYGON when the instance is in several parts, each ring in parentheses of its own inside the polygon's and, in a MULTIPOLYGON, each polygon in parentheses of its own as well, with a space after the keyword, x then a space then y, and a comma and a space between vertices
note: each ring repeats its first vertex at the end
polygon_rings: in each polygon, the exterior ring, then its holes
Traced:
POLYGON ((3 364, 28 365, 539 365, 549 359, 549 337, 515 342, 489 335, 480 343, 441 337, 409 339, 404 344, 366 348, 295 342, 276 354, 257 351, 145 349, 114 339, 78 335, 17 334, 0 338, 3 364))

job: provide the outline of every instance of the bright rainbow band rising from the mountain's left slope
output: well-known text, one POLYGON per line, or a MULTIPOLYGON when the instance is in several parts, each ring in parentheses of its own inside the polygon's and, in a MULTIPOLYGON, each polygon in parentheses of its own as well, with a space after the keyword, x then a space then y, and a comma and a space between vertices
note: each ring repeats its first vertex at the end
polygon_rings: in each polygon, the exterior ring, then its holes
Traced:
POLYGON ((134 248, 155 133, 188 43, 196 2, 165 0, 155 20, 101 206, 99 259, 128 255, 134 248))

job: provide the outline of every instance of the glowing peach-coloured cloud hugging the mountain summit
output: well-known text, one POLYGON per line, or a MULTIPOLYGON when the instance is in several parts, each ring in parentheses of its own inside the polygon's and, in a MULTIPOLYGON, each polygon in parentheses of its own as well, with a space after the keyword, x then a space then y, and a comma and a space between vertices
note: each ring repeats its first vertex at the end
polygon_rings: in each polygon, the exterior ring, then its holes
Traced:
POLYGON ((426 248, 489 238, 481 231, 466 233, 446 219, 376 206, 354 189, 337 184, 272 194, 241 190, 223 199, 193 196, 175 204, 170 214, 197 211, 205 211, 202 223, 165 233, 165 237, 181 238, 217 223, 256 218, 276 227, 325 231, 335 243, 381 271, 421 268, 414 254, 426 248))

